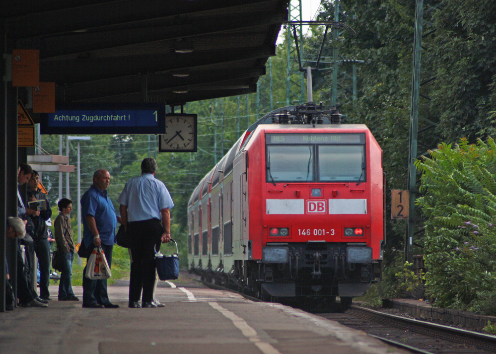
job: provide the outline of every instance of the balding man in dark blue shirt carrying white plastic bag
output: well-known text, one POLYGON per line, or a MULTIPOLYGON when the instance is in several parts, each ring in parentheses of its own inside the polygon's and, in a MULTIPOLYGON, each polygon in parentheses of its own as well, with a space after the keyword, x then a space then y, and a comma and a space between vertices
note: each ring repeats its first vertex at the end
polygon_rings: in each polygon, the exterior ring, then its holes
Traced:
MULTIPOLYGON (((110 173, 98 170, 93 174, 93 185, 81 198, 83 240, 86 248, 101 246, 109 267, 112 267, 112 250, 115 243, 117 215, 112 201, 107 196, 110 173)), ((84 267, 83 274, 86 274, 84 267)), ((117 308, 110 302, 107 293, 107 280, 91 280, 83 276, 82 307, 117 308)))

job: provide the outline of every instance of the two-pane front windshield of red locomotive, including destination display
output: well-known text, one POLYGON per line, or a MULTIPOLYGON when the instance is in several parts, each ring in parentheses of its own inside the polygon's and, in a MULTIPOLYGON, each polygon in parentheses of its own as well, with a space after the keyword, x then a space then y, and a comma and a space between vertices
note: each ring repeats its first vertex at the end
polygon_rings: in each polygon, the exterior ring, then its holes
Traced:
POLYGON ((364 182, 365 134, 267 134, 267 182, 364 182))

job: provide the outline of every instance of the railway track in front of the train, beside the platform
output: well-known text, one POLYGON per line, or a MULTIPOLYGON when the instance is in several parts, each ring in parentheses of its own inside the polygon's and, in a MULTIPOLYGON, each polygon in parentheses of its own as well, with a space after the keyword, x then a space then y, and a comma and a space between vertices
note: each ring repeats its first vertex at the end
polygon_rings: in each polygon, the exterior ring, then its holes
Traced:
POLYGON ((358 306, 344 312, 316 315, 362 330, 378 339, 413 353, 487 354, 496 353, 496 337, 426 321, 390 315, 358 306))

